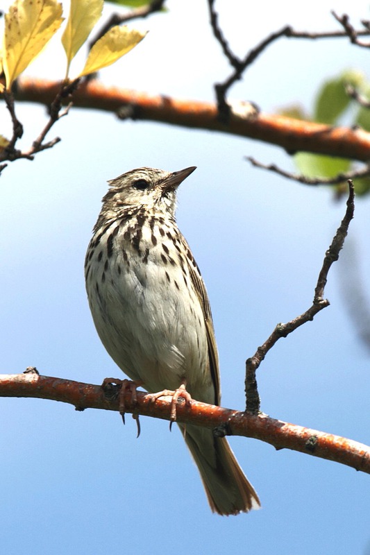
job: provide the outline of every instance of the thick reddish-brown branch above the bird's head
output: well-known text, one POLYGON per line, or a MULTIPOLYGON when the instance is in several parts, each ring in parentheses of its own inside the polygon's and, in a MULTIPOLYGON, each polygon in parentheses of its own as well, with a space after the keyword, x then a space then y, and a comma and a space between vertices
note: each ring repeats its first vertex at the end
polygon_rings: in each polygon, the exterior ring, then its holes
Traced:
MULTIPOLYGON (((49 105, 60 83, 22 77, 17 82, 16 101, 49 105)), ((130 89, 106 87, 99 81, 83 83, 72 97, 80 108, 117 112, 126 110, 133 119, 162 121, 177 126, 216 130, 276 144, 289 153, 308 151, 367 162, 370 160, 370 133, 346 127, 332 128, 321 123, 283 116, 259 114, 244 117, 237 110, 229 123, 217 118, 217 105, 210 102, 172 99, 130 89)))

